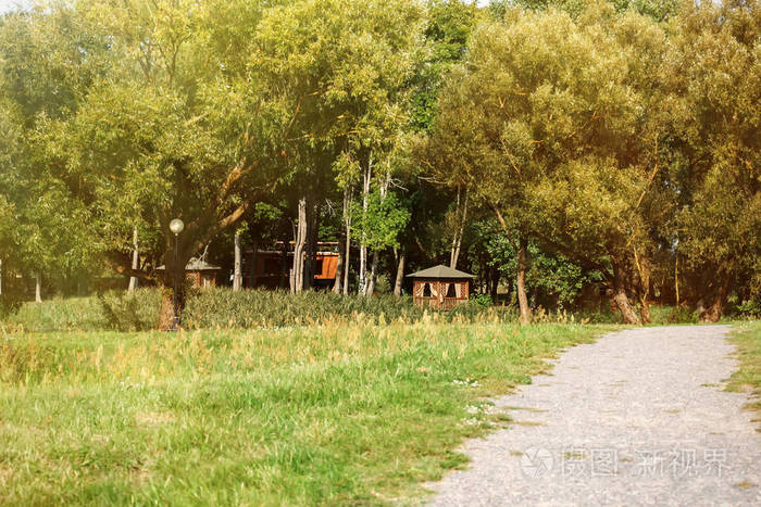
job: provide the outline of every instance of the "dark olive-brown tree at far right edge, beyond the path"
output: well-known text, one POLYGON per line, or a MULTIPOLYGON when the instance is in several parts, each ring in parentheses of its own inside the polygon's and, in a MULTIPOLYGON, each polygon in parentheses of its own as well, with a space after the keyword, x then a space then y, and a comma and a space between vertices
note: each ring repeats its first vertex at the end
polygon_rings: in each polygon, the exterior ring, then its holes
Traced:
POLYGON ((687 5, 677 28, 664 68, 679 154, 674 242, 700 319, 716 321, 733 291, 761 300, 761 9, 687 5))

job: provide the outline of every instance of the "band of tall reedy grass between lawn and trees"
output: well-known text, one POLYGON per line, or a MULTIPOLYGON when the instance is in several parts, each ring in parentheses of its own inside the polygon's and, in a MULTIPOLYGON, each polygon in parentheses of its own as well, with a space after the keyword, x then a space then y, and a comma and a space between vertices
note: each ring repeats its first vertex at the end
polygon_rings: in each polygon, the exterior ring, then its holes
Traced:
MULTIPOLYGON (((11 331, 149 331, 159 320, 161 294, 141 289, 134 294, 112 292, 100 296, 52 299, 25 303, 3 320, 11 331)), ((696 320, 687 309, 651 306, 652 324, 683 324, 696 320)), ((431 312, 412 304, 411 299, 376 295, 341 296, 332 292, 240 291, 226 288, 203 289, 189 294, 183 312, 186 329, 250 329, 284 326, 310 326, 332 319, 403 321, 413 324, 428 318, 431 312)), ((516 321, 512 306, 483 306, 475 302, 439 314, 441 320, 516 321)), ((594 310, 546 310, 534 308, 534 319, 547 322, 619 324, 621 316, 610 308, 594 310)))

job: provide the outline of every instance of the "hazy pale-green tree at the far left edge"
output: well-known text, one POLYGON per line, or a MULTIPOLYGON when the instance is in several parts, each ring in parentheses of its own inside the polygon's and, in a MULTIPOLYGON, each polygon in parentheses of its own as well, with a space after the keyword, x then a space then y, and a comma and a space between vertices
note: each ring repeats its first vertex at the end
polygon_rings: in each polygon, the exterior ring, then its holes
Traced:
POLYGON ((91 271, 96 249, 82 188, 48 163, 39 126, 76 111, 103 75, 103 46, 71 10, 0 17, 0 259, 36 279, 38 301, 42 279, 71 283, 91 271))

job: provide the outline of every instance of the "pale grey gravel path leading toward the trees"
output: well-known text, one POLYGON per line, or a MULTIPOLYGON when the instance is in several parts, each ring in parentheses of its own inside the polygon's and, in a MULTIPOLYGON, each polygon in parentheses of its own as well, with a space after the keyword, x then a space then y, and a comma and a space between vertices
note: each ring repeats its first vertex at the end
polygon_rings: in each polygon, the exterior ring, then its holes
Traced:
POLYGON ((761 434, 728 326, 641 328, 578 345, 496 400, 514 423, 465 443, 433 505, 761 505, 761 434))

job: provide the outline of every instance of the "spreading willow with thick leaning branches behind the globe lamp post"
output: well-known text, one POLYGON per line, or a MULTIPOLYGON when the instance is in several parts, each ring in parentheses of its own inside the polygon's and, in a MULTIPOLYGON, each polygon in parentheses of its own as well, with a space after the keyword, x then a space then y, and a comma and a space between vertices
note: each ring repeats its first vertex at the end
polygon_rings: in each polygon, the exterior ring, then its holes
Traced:
MULTIPOLYGON (((40 123, 40 139, 48 164, 77 181, 96 240, 123 272, 151 276, 130 269, 138 225, 165 263, 160 280, 172 287, 175 272, 275 179, 272 147, 289 118, 262 99, 241 60, 262 9, 132 0, 71 10, 83 31, 108 41, 109 69, 76 97, 75 112, 40 123), (176 263, 173 218, 186 224, 176 263)), ((167 290, 162 327, 172 321, 171 301, 167 290)))

